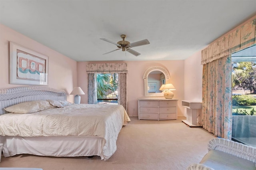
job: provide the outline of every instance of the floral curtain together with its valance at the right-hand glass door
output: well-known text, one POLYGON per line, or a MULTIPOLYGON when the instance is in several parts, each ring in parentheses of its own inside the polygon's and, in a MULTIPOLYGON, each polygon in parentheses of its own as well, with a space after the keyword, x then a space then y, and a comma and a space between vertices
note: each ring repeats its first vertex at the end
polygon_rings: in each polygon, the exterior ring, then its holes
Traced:
POLYGON ((202 50, 202 122, 215 136, 232 133, 231 54, 256 44, 256 16, 202 50))

